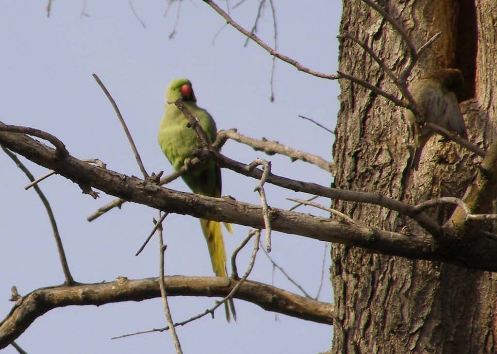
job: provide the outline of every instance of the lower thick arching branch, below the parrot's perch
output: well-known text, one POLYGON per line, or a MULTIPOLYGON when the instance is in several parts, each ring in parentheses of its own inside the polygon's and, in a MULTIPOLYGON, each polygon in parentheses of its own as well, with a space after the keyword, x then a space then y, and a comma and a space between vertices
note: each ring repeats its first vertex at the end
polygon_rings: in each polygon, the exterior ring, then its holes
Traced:
MULTIPOLYGON (((237 280, 220 277, 166 276, 167 296, 227 295, 237 280)), ((75 286, 57 286, 35 290, 18 300, 0 323, 0 349, 18 338, 35 319, 46 312, 70 305, 103 305, 122 301, 142 301, 161 296, 158 278, 116 281, 75 286)), ((288 291, 246 280, 235 294, 266 311, 318 323, 331 324, 333 305, 308 299, 288 291)))

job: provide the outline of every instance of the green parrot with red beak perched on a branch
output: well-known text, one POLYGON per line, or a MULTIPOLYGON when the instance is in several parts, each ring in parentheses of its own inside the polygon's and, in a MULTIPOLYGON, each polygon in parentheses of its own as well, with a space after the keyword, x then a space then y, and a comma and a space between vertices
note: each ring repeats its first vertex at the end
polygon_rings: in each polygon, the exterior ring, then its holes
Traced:
MULTIPOLYGON (((184 106, 198 119, 202 129, 211 142, 216 140, 216 123, 212 116, 203 108, 197 106, 197 99, 188 79, 174 79, 166 89, 166 110, 159 125, 158 140, 162 151, 174 170, 179 169, 188 159, 192 158, 193 150, 200 147, 197 134, 186 126, 187 119, 176 107, 174 101, 181 98, 184 106), (185 161, 186 160, 186 161, 185 161)), ((213 162, 207 161, 194 171, 187 171, 181 177, 194 193, 211 197, 221 197, 221 169, 213 162)), ((217 221, 200 219, 209 254, 212 269, 217 276, 227 277, 226 251, 224 249, 221 224, 217 221)), ((233 233, 231 224, 225 223, 228 231, 233 233)), ((230 308, 233 318, 237 319, 233 300, 225 302, 226 320, 230 321, 230 308), (229 306, 228 306, 229 302, 229 306)))

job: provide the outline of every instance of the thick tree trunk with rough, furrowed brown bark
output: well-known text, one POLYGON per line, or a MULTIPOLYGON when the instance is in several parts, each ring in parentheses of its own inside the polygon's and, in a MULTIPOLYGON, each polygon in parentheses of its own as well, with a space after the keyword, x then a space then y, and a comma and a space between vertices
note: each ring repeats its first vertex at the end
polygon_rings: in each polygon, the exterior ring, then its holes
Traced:
MULTIPOLYGON (((469 140, 486 149, 497 138, 497 1, 376 2, 406 28, 417 47, 442 32, 420 58, 412 78, 426 70, 461 68, 466 81, 461 109, 469 140)), ((368 43, 394 72, 406 64, 407 51, 400 36, 364 2, 343 1, 340 31, 368 43)), ((352 41, 342 41, 339 66, 387 92, 398 92, 374 60, 352 41)), ((435 136, 424 149, 419 170, 409 171, 408 145, 413 136, 403 109, 345 80, 340 85, 333 146, 338 188, 379 192, 414 203, 464 195, 480 158, 453 142, 439 142, 441 137, 435 136)), ((364 225, 420 232, 408 218, 385 208, 337 200, 333 207, 364 225)), ((453 209, 441 207, 430 212, 443 223, 453 209)), ((494 273, 373 255, 336 244, 331 257, 335 303, 332 353, 497 351, 494 273)))

